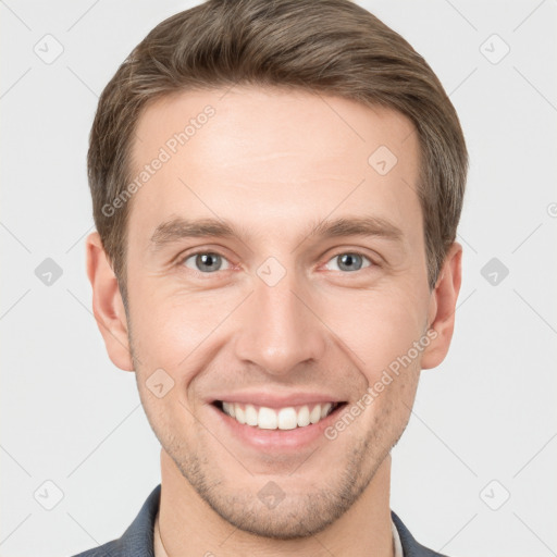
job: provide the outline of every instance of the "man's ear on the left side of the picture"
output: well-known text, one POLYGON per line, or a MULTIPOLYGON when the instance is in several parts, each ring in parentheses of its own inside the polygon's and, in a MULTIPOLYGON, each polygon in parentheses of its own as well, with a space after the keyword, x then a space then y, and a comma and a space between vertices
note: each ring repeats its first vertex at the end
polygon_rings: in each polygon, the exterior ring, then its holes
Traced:
POLYGON ((98 232, 87 236, 86 249, 87 275, 92 286, 92 313, 107 351, 114 366, 134 371, 124 302, 98 232))

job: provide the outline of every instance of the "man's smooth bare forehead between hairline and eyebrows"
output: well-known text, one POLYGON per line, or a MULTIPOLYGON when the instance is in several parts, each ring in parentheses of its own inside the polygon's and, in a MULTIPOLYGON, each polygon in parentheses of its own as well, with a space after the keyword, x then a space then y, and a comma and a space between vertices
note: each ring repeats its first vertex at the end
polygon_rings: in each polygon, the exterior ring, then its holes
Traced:
POLYGON ((302 227, 332 212, 419 226, 413 129, 394 110, 322 94, 173 94, 137 123, 131 227, 147 234, 171 215, 222 216, 263 233, 270 223, 302 227))

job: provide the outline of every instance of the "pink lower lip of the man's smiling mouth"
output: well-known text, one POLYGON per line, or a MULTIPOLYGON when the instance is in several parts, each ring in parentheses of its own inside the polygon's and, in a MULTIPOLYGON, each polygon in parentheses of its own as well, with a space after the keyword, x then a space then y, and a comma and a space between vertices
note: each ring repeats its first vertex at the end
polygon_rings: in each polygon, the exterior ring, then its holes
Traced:
POLYGON ((332 413, 318 423, 310 423, 294 430, 262 430, 255 425, 239 423, 214 405, 209 406, 216 413, 218 419, 221 420, 223 425, 243 443, 259 450, 294 451, 315 443, 319 438, 326 440, 324 431, 339 418, 347 405, 344 404, 335 408, 332 413))

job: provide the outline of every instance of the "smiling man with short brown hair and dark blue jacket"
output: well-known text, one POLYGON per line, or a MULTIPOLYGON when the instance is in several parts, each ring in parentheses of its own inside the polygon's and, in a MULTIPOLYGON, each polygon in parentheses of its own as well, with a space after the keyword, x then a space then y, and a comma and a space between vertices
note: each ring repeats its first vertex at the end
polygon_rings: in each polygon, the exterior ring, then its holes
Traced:
POLYGON ((87 264, 161 484, 81 555, 438 555, 389 451, 453 335, 467 168, 432 70, 348 0, 210 0, 137 46, 91 131, 87 264))

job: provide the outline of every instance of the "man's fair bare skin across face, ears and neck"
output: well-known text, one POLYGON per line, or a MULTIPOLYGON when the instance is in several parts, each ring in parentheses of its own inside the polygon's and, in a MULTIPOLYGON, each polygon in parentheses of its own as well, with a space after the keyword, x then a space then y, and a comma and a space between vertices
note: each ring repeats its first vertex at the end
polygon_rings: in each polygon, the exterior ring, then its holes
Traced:
POLYGON ((87 238, 108 354, 135 371, 162 446, 165 549, 173 557, 393 555, 389 451, 421 369, 448 350, 461 246, 450 247, 430 290, 419 144, 406 116, 302 91, 224 92, 165 97, 138 121, 137 171, 203 107, 215 109, 131 200, 128 315, 99 235, 87 238), (384 176, 368 163, 382 145, 398 159, 384 176), (215 215, 247 235, 150 246, 160 223, 215 215), (370 215, 399 228, 400 240, 308 237, 317 221, 370 215), (218 271, 185 259, 197 249, 222 256, 210 263, 218 271), (363 258, 342 268, 337 256, 355 252, 363 258), (257 274, 269 257, 286 270, 272 287, 257 274), (230 435, 207 403, 257 387, 334 393, 354 404, 429 327, 436 338, 335 441, 269 455, 230 435), (158 398, 146 381, 161 368, 174 386, 158 398), (269 481, 285 493, 272 509, 258 498, 269 481))

